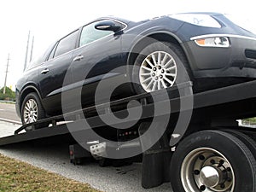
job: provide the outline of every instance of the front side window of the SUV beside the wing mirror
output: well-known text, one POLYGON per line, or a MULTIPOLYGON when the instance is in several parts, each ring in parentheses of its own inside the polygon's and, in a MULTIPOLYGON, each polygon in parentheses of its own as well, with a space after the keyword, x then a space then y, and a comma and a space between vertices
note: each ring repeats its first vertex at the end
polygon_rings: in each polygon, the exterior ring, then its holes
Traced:
POLYGON ((83 27, 79 47, 84 46, 85 44, 90 44, 91 42, 94 42, 100 38, 104 38, 110 34, 113 34, 111 31, 96 30, 95 26, 98 22, 100 21, 90 23, 89 25, 83 27))

